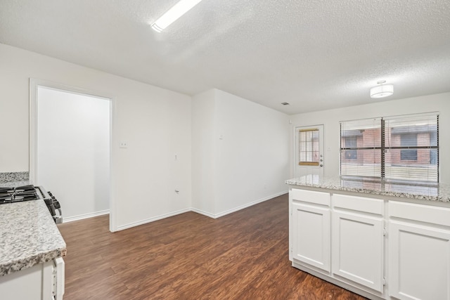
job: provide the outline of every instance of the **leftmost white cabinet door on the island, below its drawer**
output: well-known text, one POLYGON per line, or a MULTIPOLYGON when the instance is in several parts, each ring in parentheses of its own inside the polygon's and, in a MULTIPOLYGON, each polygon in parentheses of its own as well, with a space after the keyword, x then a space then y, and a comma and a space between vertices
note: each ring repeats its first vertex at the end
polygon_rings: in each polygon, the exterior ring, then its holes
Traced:
POLYGON ((330 209, 293 203, 293 259, 330 272, 330 209))

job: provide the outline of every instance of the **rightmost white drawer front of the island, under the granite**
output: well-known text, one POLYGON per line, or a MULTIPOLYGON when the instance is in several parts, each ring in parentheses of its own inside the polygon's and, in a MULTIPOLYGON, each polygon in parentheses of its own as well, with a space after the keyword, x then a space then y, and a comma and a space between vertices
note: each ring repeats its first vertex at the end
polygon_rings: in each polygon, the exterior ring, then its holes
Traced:
POLYGON ((390 201, 388 211, 390 217, 450 227, 450 209, 446 207, 390 201))

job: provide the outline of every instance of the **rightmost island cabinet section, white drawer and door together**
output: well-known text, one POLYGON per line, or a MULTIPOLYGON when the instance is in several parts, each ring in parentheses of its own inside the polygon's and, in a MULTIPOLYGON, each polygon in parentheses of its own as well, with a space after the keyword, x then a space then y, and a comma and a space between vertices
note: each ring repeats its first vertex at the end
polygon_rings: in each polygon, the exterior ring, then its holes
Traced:
POLYGON ((450 209, 390 202, 389 212, 390 296, 450 300, 450 209))

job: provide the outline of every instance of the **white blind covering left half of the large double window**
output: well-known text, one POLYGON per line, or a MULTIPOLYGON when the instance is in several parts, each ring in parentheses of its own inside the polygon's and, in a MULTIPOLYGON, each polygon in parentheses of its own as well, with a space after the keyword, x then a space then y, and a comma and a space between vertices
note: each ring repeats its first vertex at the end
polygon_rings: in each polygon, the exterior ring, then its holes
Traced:
POLYGON ((380 177, 381 118, 340 122, 340 174, 380 177))

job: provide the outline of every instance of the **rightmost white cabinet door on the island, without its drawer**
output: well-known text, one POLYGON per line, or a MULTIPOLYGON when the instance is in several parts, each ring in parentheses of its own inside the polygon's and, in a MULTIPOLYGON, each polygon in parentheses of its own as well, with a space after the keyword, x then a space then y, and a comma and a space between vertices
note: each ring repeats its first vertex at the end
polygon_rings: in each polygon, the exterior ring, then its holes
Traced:
POLYGON ((390 221, 390 296, 450 299, 450 232, 390 221))

